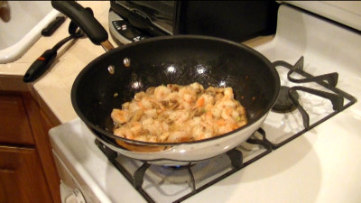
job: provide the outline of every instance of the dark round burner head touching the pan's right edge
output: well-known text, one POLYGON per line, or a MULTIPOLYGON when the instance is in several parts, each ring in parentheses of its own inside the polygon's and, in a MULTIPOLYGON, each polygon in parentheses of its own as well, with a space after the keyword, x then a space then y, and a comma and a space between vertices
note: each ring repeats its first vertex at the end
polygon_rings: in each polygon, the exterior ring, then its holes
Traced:
POLYGON ((289 94, 292 94, 292 97, 296 100, 299 99, 299 94, 296 91, 289 93, 290 87, 281 86, 280 95, 277 98, 276 103, 274 104, 272 110, 277 113, 288 113, 295 110, 297 107, 292 102, 289 94))

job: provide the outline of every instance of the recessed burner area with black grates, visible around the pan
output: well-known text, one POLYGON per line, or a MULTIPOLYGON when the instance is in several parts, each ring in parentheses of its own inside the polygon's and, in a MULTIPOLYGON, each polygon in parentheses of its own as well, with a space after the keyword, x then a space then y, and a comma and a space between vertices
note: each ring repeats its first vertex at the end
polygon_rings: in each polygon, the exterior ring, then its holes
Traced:
POLYGON ((336 88, 338 73, 313 77, 303 70, 303 62, 303 57, 294 65, 282 60, 273 62, 280 68, 282 90, 264 125, 245 143, 207 161, 159 166, 127 158, 98 140, 95 143, 148 202, 180 202, 355 104, 355 97, 336 88))

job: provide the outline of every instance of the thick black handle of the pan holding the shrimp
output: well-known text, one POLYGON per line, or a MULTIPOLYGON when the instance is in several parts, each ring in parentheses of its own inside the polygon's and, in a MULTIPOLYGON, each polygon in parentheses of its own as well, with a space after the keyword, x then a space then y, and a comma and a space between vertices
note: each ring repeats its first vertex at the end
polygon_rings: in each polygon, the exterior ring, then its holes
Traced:
POLYGON ((73 1, 51 1, 51 5, 76 23, 94 44, 107 41, 106 29, 83 6, 73 1))

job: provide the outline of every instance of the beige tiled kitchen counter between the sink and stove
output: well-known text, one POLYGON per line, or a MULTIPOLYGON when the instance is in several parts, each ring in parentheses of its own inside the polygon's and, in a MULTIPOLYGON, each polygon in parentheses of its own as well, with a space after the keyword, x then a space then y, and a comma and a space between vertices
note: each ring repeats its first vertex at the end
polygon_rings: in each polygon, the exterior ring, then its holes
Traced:
MULTIPOLYGON (((80 2, 80 4, 84 7, 91 7, 97 20, 108 29, 107 14, 110 7, 109 2, 87 1, 80 2)), ((20 78, 23 77, 32 62, 43 51, 51 49, 57 42, 60 42, 60 40, 69 35, 69 22, 70 20, 67 18, 51 36, 42 36, 19 60, 0 64, 0 76, 7 78, 6 80, 0 80, 0 89, 5 89, 9 85, 19 86, 20 78), (9 78, 17 79, 13 82, 11 79, 9 81, 9 78)), ((109 40, 113 42, 110 37, 109 40)), ((116 43, 113 42, 113 44, 116 43)), ((60 123, 66 123, 78 117, 71 106, 71 86, 79 71, 104 52, 102 47, 94 45, 88 38, 68 42, 58 51, 57 59, 53 62, 51 69, 42 78, 37 79, 31 84, 31 88, 35 90, 35 95, 39 96, 39 99, 42 100, 40 104, 49 107, 51 113, 56 116, 60 123)))

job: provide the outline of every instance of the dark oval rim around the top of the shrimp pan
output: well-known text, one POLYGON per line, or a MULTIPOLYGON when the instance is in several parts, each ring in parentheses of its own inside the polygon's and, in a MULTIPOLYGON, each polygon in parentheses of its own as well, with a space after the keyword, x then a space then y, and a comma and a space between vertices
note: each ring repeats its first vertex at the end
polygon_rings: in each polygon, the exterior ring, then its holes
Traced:
MULTIPOLYGON (((277 70, 275 69, 273 63, 268 60, 263 54, 261 54, 258 51, 255 51, 254 49, 246 46, 245 44, 241 44, 241 43, 237 43, 237 42, 233 42, 233 41, 229 41, 226 39, 222 39, 222 38, 218 38, 218 37, 212 37, 212 36, 205 36, 205 35, 194 35, 194 34, 179 34, 179 35, 168 35, 168 36, 161 36, 161 37, 154 37, 154 38, 148 38, 145 39, 143 41, 140 42, 133 42, 133 43, 128 43, 125 44, 124 46, 121 47, 117 47, 111 51, 107 51, 104 54, 98 56, 96 59, 90 61, 88 63, 88 65, 80 70, 77 78, 75 78, 74 83, 72 85, 71 88, 71 92, 70 92, 70 97, 71 97, 71 104, 75 110, 75 112, 77 113, 77 115, 79 116, 79 118, 89 127, 91 128, 91 130, 93 131, 93 133, 98 133, 98 134, 104 134, 107 137, 111 138, 111 139, 116 139, 118 141, 123 141, 126 143, 133 143, 133 144, 138 144, 138 145, 147 145, 147 146, 175 146, 175 145, 181 145, 181 144, 197 144, 197 143, 205 143, 205 142, 209 142, 209 141, 213 141, 213 140, 217 140, 217 139, 221 139, 223 137, 235 134, 243 129, 245 129, 246 127, 248 127, 249 125, 253 125, 255 124, 258 120, 262 119, 264 117, 264 115, 267 115, 269 113, 269 111, 271 110, 271 108, 274 106, 279 93, 280 93, 280 88, 281 88, 281 81, 280 81, 280 77, 278 75, 277 70), (136 140, 131 140, 131 139, 126 139, 123 137, 119 137, 116 136, 115 134, 106 131, 105 129, 98 127, 97 125, 93 124, 92 122, 90 122, 88 120, 88 118, 81 112, 79 105, 77 103, 76 97, 77 97, 77 87, 79 86, 80 83, 80 78, 83 78, 82 76, 84 74, 86 74, 89 70, 91 70, 92 67, 94 67, 92 64, 96 63, 98 60, 102 60, 104 58, 106 58, 107 55, 112 54, 115 51, 121 51, 121 50, 125 50, 128 49, 129 47, 133 47, 133 46, 139 46, 139 44, 143 44, 143 43, 151 43, 151 42, 158 42, 158 41, 166 41, 166 40, 174 40, 174 39, 192 39, 192 40, 210 40, 210 41, 217 41, 217 42, 223 42, 223 43, 228 43, 230 45, 245 49, 246 51, 250 51, 251 53, 255 54, 260 60, 262 60, 267 67, 270 68, 270 71, 273 72, 273 75, 275 76, 275 83, 274 83, 274 89, 275 92, 273 94, 273 98, 271 99, 271 102, 269 102, 269 104, 266 106, 264 113, 262 115, 259 115, 259 117, 255 120, 255 122, 252 123, 247 123, 246 125, 237 128, 236 130, 230 131, 227 134, 220 134, 218 136, 214 136, 214 137, 210 137, 207 139, 202 139, 199 141, 192 141, 192 142, 181 142, 181 143, 151 143, 151 142, 143 142, 143 141, 136 141, 136 140)), ((110 115, 109 115, 110 116, 110 115)), ((252 134, 249 134, 249 136, 251 136, 252 134)), ((99 136, 97 136, 99 137, 99 136)), ((113 143, 114 145, 116 143, 113 143)), ((121 147, 119 145, 116 145, 117 147, 121 147)))

